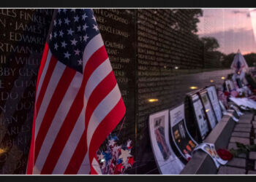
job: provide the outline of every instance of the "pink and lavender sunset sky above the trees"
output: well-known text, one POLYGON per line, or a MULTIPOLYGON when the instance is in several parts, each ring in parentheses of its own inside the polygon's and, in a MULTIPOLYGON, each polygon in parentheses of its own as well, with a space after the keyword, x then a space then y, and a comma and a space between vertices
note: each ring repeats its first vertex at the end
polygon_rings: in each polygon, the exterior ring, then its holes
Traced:
POLYGON ((219 51, 256 53, 256 9, 203 9, 197 34, 213 36, 219 51))

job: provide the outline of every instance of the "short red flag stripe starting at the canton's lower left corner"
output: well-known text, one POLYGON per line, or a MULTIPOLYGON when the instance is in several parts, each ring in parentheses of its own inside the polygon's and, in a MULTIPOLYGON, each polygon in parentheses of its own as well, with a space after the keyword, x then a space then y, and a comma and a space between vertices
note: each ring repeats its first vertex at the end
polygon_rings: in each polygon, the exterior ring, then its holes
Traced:
MULTIPOLYGON (((49 63, 49 66, 48 66, 48 70, 45 74, 45 79, 43 80, 42 82, 42 87, 41 87, 41 90, 39 90, 39 95, 38 95, 38 98, 36 100, 36 109, 37 109, 37 114, 38 114, 38 111, 39 111, 39 108, 42 104, 42 99, 44 98, 45 96, 45 92, 47 90, 47 87, 48 87, 48 84, 50 82, 50 78, 53 74, 53 70, 57 64, 58 60, 56 58, 54 58, 53 56, 50 58, 50 63, 49 63)), ((37 116, 36 114, 36 116, 37 116)))

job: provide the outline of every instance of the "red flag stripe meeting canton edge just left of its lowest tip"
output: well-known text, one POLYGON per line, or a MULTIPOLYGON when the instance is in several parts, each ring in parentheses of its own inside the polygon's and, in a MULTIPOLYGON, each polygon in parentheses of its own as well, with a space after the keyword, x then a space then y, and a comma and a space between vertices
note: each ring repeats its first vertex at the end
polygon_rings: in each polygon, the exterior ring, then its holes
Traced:
POLYGON ((59 80, 59 83, 56 87, 56 90, 53 92, 53 96, 50 99, 50 103, 48 104, 48 108, 45 112, 45 116, 42 119, 42 123, 40 125, 37 138, 36 138, 36 149, 35 149, 35 161, 37 161, 37 157, 39 151, 41 149, 42 143, 45 140, 45 135, 47 134, 50 124, 53 121, 53 117, 56 114, 56 111, 61 104, 62 99, 64 98, 67 89, 69 88, 69 84, 72 82, 72 79, 75 76, 76 71, 72 68, 65 68, 64 73, 59 80))

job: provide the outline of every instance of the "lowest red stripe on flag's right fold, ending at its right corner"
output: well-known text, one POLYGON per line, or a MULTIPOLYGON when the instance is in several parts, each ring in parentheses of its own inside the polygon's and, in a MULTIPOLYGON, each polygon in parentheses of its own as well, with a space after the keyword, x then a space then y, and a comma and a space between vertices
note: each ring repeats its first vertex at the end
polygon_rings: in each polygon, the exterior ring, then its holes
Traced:
MULTIPOLYGON (((112 132, 118 122, 124 117, 125 114, 125 106, 122 98, 118 101, 116 106, 108 113, 107 116, 99 123, 97 129, 94 131, 92 135, 90 146, 89 146, 89 159, 90 164, 95 157, 99 146, 105 141, 105 138, 108 137, 110 132, 112 132)), ((92 168, 92 167, 91 167, 92 168)), ((95 170, 91 170, 91 174, 97 174, 95 170)))

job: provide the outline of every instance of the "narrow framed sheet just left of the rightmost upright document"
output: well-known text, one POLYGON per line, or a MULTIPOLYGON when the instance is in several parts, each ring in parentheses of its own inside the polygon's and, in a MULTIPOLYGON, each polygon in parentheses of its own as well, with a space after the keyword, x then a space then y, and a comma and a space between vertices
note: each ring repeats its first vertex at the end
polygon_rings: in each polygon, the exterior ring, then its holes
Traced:
POLYGON ((211 101, 208 97, 207 90, 202 90, 199 92, 200 98, 203 103, 204 111, 206 111, 206 116, 208 118, 208 123, 210 124, 211 130, 214 129, 217 124, 217 119, 214 114, 214 108, 212 108, 211 101))

